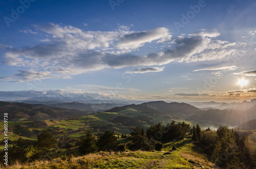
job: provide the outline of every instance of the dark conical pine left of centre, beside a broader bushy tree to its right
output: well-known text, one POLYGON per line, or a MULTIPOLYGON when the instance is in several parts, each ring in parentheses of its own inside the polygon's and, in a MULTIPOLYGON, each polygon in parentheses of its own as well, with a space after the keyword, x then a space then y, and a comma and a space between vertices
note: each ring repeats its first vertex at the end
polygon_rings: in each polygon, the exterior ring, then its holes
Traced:
POLYGON ((95 153, 98 150, 96 146, 95 136, 91 130, 88 130, 85 136, 82 136, 79 146, 79 152, 81 154, 95 153))

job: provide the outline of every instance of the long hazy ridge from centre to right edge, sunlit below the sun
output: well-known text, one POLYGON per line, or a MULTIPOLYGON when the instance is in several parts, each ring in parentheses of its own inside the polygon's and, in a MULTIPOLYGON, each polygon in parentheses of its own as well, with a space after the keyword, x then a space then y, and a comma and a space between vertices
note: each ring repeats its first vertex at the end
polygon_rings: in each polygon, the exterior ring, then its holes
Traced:
POLYGON ((163 101, 158 102, 148 102, 142 103, 140 105, 126 105, 122 107, 114 107, 105 112, 121 112, 128 108, 133 108, 136 111, 148 112, 151 114, 159 115, 170 115, 176 116, 179 119, 184 119, 187 121, 197 122, 201 126, 215 126, 228 125, 231 127, 238 126, 250 119, 256 118, 256 105, 255 100, 251 102, 242 102, 234 106, 234 108, 239 108, 237 110, 233 109, 208 109, 202 110, 195 106, 191 106, 186 103, 166 103, 163 101))

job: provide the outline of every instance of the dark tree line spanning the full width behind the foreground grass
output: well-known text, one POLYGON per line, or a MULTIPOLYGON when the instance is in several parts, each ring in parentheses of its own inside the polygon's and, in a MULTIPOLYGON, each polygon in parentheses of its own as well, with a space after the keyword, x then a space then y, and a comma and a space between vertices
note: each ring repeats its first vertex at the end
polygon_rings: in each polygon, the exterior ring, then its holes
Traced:
MULTIPOLYGON (((63 156, 63 149, 68 149, 67 155, 83 155, 100 151, 123 152, 136 151, 161 151, 162 142, 170 142, 184 138, 191 138, 207 154, 209 161, 224 168, 253 168, 255 167, 256 143, 246 134, 239 134, 228 126, 220 126, 217 131, 210 128, 201 130, 200 126, 190 126, 186 123, 151 125, 145 131, 143 128, 134 127, 129 135, 122 134, 121 138, 127 143, 120 143, 117 136, 110 130, 100 136, 95 136, 89 129, 80 138, 60 137, 53 139, 47 130, 37 136, 37 141, 19 138, 12 141, 8 148, 10 162, 30 162, 36 159, 52 159, 63 156), (78 149, 78 154, 74 149, 78 149)), ((175 147, 172 150, 176 150, 175 147)), ((4 151, 0 152, 3 155, 4 151)), ((0 159, 3 160, 3 159, 0 159)))

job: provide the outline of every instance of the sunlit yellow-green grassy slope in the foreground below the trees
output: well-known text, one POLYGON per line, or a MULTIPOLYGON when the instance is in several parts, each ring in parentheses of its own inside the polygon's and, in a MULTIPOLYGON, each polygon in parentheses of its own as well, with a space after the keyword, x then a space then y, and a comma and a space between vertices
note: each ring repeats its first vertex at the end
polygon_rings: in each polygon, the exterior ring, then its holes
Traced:
POLYGON ((216 168, 200 152, 200 149, 195 148, 190 139, 166 143, 163 146, 163 151, 100 152, 80 157, 36 161, 25 165, 16 164, 9 168, 216 168), (169 152, 174 144, 179 147, 178 150, 163 155, 169 152), (193 163, 188 162, 189 160, 193 163))

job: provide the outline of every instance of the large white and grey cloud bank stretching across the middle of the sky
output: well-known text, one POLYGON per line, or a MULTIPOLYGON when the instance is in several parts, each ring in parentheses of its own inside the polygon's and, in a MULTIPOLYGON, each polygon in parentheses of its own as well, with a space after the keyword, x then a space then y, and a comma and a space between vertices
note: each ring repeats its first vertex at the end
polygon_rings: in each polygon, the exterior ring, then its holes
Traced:
MULTIPOLYGON (((29 70, 12 75, 16 82, 31 81, 36 77, 68 78, 72 75, 103 68, 123 68, 145 66, 130 70, 133 73, 162 71, 172 61, 198 62, 217 60, 241 52, 237 47, 241 43, 216 40, 218 32, 200 32, 189 34, 188 37, 173 38, 166 28, 134 32, 130 27, 119 26, 117 30, 82 31, 72 26, 46 23, 36 26, 38 31, 47 34, 39 44, 11 49, 5 53, 4 63, 11 66, 27 67, 29 70), (146 42, 165 43, 172 40, 172 45, 159 52, 146 55, 134 55, 146 42), (157 41, 158 40, 158 41, 157 41), (154 66, 154 67, 149 67, 154 66), (153 69, 152 69, 153 68, 153 69)), ((154 45, 154 44, 152 44, 154 45)), ((5 45, 0 45, 8 48, 5 45)), ((157 49, 156 49, 157 51, 157 49)), ((13 81, 14 82, 14 81, 13 81)))

